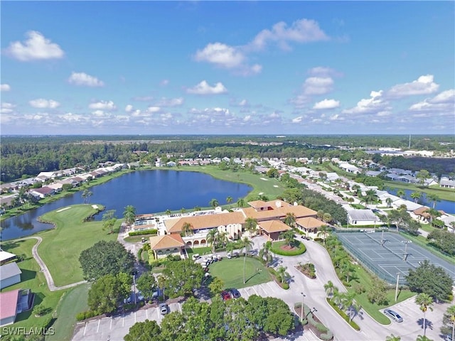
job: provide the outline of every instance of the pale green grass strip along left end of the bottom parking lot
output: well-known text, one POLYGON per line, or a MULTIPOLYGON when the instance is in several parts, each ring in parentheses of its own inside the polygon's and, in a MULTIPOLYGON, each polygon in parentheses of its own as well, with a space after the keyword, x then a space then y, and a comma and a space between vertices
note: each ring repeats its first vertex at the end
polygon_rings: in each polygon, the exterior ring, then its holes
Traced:
POLYGON ((71 340, 76 325, 76 314, 88 310, 87 297, 90 285, 82 284, 63 295, 57 308, 57 320, 53 324, 54 335, 46 337, 48 341, 71 340))

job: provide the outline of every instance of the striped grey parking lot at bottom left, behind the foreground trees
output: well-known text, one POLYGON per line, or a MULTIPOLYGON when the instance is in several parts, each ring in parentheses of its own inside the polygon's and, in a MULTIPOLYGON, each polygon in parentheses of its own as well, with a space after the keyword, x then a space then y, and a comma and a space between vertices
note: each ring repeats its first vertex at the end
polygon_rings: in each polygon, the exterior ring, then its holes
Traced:
MULTIPOLYGON (((181 312, 181 303, 169 303, 169 311, 181 312)), ((145 320, 155 320, 157 323, 161 323, 162 319, 163 315, 159 312, 159 308, 151 307, 137 310, 134 313, 90 320, 86 323, 77 323, 73 340, 120 341, 128 334, 129 328, 134 323, 144 322, 145 320)))

